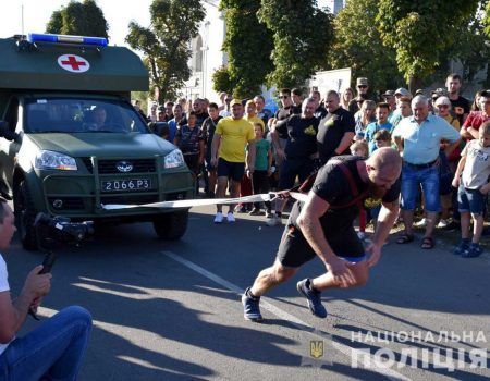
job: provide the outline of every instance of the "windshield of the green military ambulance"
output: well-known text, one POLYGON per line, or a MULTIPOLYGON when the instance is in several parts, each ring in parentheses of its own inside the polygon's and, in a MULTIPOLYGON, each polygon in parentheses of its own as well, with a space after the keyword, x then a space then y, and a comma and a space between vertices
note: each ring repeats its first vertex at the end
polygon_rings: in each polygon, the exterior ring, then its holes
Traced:
POLYGON ((26 133, 150 133, 130 103, 107 99, 30 99, 24 121, 26 133))

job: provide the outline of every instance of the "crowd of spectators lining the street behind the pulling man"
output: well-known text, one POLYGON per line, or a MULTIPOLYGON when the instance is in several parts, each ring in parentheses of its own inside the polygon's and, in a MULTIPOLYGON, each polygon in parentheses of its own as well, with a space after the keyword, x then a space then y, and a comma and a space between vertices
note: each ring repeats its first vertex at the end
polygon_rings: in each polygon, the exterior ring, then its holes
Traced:
MULTIPOLYGON (((413 242, 413 229, 419 226, 425 228, 420 247, 430 249, 436 229, 460 229, 454 253, 477 257, 490 190, 490 90, 478 91, 471 103, 461 87, 461 76, 451 74, 445 88, 412 95, 400 87, 372 99, 368 78, 359 77, 355 90, 323 97, 317 89, 303 96, 298 88, 283 88, 275 112, 265 108, 261 95, 238 100, 222 93, 219 103, 184 98, 154 103, 144 118, 154 126, 163 123, 154 130, 181 148, 188 168, 203 177, 206 197, 224 196, 226 186, 235 196, 290 189, 331 157, 367 158, 391 146, 403 157, 404 231, 396 243, 413 242), (415 210, 420 218, 414 218, 415 210)), ((242 204, 230 208, 226 219, 235 222, 234 212, 249 212, 267 216, 270 226, 281 225, 284 205, 283 199, 242 204)), ((371 200, 360 212, 360 236, 378 205, 371 200)), ((222 221, 219 207, 215 222, 222 221)))

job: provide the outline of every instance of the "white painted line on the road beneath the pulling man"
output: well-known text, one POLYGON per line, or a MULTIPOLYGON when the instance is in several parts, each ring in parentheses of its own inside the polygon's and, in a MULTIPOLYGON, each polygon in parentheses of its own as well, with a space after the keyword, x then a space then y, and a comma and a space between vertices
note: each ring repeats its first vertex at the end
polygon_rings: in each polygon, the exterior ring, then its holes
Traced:
MULTIPOLYGON (((169 258, 172 258, 173 260, 177 261, 181 265, 184 265, 186 268, 194 270, 195 272, 199 273, 203 276, 206 276, 207 279, 210 279, 211 281, 220 284, 221 286, 241 295, 244 293, 244 290, 242 290, 241 287, 238 287, 237 285, 226 281, 225 279, 206 270, 205 268, 191 262, 189 260, 176 255, 175 253, 172 251, 162 251, 163 255, 166 255, 169 258)), ((317 329, 315 329, 314 327, 309 325, 307 322, 296 318, 295 316, 284 311, 283 309, 275 307, 274 305, 272 305, 271 303, 264 300, 264 297, 260 298, 260 307, 264 309, 267 309, 269 312, 271 312, 272 315, 275 315, 278 318, 282 319, 282 320, 287 320, 289 322, 291 322, 294 327, 296 327, 297 329, 302 330, 302 331, 306 331, 309 332, 310 334, 320 336, 321 339, 327 339, 327 340, 331 340, 331 337, 327 337, 324 334, 322 334, 321 331, 318 331, 317 329)), ((342 354, 344 354, 347 357, 352 356, 352 351, 353 348, 350 347, 348 345, 342 344, 342 343, 338 343, 334 341, 331 341, 331 344, 335 349, 338 349, 339 352, 341 352, 342 354)), ((363 366, 366 369, 376 371, 377 373, 387 377, 390 380, 407 380, 411 381, 409 378, 399 373, 397 371, 394 371, 393 369, 390 368, 376 368, 372 366, 368 366, 376 364, 373 362, 375 357, 369 355, 368 359, 364 358, 360 360, 360 358, 358 358, 359 362, 363 364, 363 366)))

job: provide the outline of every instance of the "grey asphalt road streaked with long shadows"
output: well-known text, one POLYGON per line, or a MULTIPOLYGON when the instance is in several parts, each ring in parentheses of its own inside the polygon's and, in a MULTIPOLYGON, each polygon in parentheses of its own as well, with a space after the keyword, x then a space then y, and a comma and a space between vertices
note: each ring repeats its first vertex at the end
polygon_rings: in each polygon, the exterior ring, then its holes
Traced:
MULTIPOLYGON (((490 377, 488 254, 462 259, 441 242, 433 250, 390 243, 367 286, 324 293, 324 320, 295 290, 323 271, 315 259, 262 298, 267 320, 258 324, 243 319, 240 292, 272 263, 282 229, 241 214, 215 225, 212 213, 193 209, 181 242, 157 239, 150 224, 120 225, 60 253, 39 315, 73 304, 91 312, 81 380, 490 377)), ((17 241, 4 257, 13 293, 42 260, 17 241)), ((29 319, 22 332, 36 324, 29 319)))

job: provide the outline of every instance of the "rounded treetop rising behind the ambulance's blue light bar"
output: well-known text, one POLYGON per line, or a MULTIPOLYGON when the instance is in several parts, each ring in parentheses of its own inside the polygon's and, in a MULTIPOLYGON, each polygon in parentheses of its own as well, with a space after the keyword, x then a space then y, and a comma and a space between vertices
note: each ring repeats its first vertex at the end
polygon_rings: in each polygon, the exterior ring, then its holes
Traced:
POLYGON ((70 1, 51 14, 46 26, 47 33, 106 38, 109 38, 108 30, 103 12, 94 0, 70 1))

